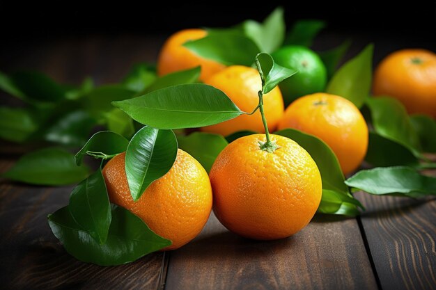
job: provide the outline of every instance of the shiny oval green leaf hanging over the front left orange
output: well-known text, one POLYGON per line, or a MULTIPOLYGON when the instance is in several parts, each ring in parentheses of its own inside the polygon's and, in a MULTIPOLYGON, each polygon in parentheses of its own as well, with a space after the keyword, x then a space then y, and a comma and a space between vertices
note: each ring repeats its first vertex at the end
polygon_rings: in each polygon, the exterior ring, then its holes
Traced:
POLYGON ((171 130, 143 127, 134 134, 125 154, 125 173, 133 200, 166 175, 177 157, 177 139, 171 130))

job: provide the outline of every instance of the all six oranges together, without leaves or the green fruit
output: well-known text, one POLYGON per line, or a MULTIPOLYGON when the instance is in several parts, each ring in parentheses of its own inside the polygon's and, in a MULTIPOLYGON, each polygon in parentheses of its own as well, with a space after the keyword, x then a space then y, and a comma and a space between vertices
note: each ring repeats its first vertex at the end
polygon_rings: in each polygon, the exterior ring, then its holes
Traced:
MULTIPOLYGON (((206 34, 201 29, 189 29, 172 35, 159 54, 157 73, 164 75, 201 65, 201 81, 225 92, 242 111, 253 111, 261 89, 257 70, 241 65, 226 67, 182 46, 206 34)), ((375 71, 373 92, 397 97, 410 113, 436 117, 435 54, 405 50, 388 56, 375 71)), ((324 140, 345 175, 364 160, 368 127, 352 102, 316 92, 297 98, 285 109, 279 87, 263 99, 269 131, 294 128, 324 140)), ((165 250, 194 239, 208 220, 212 204, 224 226, 251 239, 285 238, 309 223, 320 204, 322 182, 306 150, 293 140, 273 134, 271 139, 277 149, 260 149, 265 142, 265 128, 259 112, 200 130, 222 136, 241 130, 260 134, 229 144, 209 175, 192 156, 179 149, 173 168, 153 182, 137 202, 132 200, 127 185, 124 154, 119 154, 103 170, 111 202, 137 214, 150 229, 170 239, 173 244, 165 250)))

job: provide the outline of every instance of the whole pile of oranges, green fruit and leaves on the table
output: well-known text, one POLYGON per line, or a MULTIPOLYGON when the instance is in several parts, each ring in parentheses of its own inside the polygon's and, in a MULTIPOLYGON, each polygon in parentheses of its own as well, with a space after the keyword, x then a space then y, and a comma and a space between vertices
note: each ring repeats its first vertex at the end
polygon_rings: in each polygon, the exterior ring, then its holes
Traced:
POLYGON ((368 45, 337 69, 350 42, 311 50, 323 25, 297 22, 286 36, 278 8, 263 23, 179 31, 155 70, 138 65, 116 86, 0 74, 29 104, 0 108, 2 138, 81 147, 31 152, 3 177, 80 181, 49 225, 71 255, 100 265, 180 248, 212 209, 231 232, 273 240, 317 211, 357 216, 357 190, 436 195, 420 173, 436 167, 436 55, 394 52, 372 77, 368 45), (96 124, 108 130, 86 141, 96 124), (85 156, 101 159, 91 175, 85 156))

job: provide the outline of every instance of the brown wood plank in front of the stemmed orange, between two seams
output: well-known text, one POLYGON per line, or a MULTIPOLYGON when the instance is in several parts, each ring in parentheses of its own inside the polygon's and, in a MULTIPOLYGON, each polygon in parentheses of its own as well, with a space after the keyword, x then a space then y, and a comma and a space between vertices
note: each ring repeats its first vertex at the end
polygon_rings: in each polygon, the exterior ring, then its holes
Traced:
POLYGON ((171 252, 166 290, 377 289, 355 219, 316 217, 280 241, 251 241, 215 216, 195 241, 171 252))

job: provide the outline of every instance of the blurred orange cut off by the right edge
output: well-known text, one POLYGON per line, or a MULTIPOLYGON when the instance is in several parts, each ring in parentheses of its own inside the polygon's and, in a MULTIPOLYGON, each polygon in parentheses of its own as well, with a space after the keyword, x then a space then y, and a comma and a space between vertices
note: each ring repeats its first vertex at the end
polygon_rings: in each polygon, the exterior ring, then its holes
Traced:
POLYGON ((375 70, 373 92, 396 97, 409 113, 436 118, 436 54, 424 49, 389 54, 375 70), (413 63, 413 59, 422 63, 413 63))

